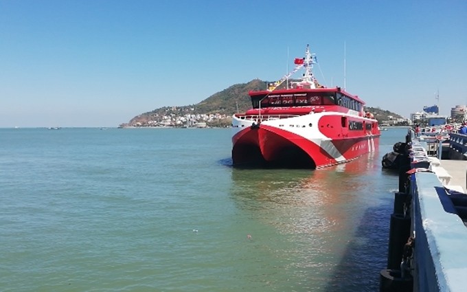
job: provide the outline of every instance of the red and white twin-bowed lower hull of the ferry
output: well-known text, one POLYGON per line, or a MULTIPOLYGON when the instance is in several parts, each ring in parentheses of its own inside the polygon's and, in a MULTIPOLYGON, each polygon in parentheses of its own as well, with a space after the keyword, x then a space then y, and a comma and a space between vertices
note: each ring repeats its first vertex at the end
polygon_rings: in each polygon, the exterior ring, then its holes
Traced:
POLYGON ((374 152, 380 137, 376 120, 345 113, 233 120, 234 166, 324 168, 374 152))

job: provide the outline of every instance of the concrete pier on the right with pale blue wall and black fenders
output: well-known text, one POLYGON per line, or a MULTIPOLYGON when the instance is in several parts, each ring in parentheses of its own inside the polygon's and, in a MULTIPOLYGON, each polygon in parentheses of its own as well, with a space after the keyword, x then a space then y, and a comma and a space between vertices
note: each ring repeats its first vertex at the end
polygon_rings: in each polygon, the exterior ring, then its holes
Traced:
POLYGON ((426 143, 418 139, 408 145, 410 170, 405 172, 401 166, 407 176, 399 176, 399 185, 407 188, 396 193, 394 210, 402 197, 404 210, 408 207, 409 211, 404 214, 409 216, 410 232, 390 234, 389 239, 399 236, 400 240, 389 240, 393 246, 388 255, 391 262, 401 264, 400 269, 388 264, 381 271, 380 291, 466 291, 467 160, 430 157, 426 143), (402 256, 390 252, 401 247, 402 256), (388 271, 393 274, 383 273, 388 271))

